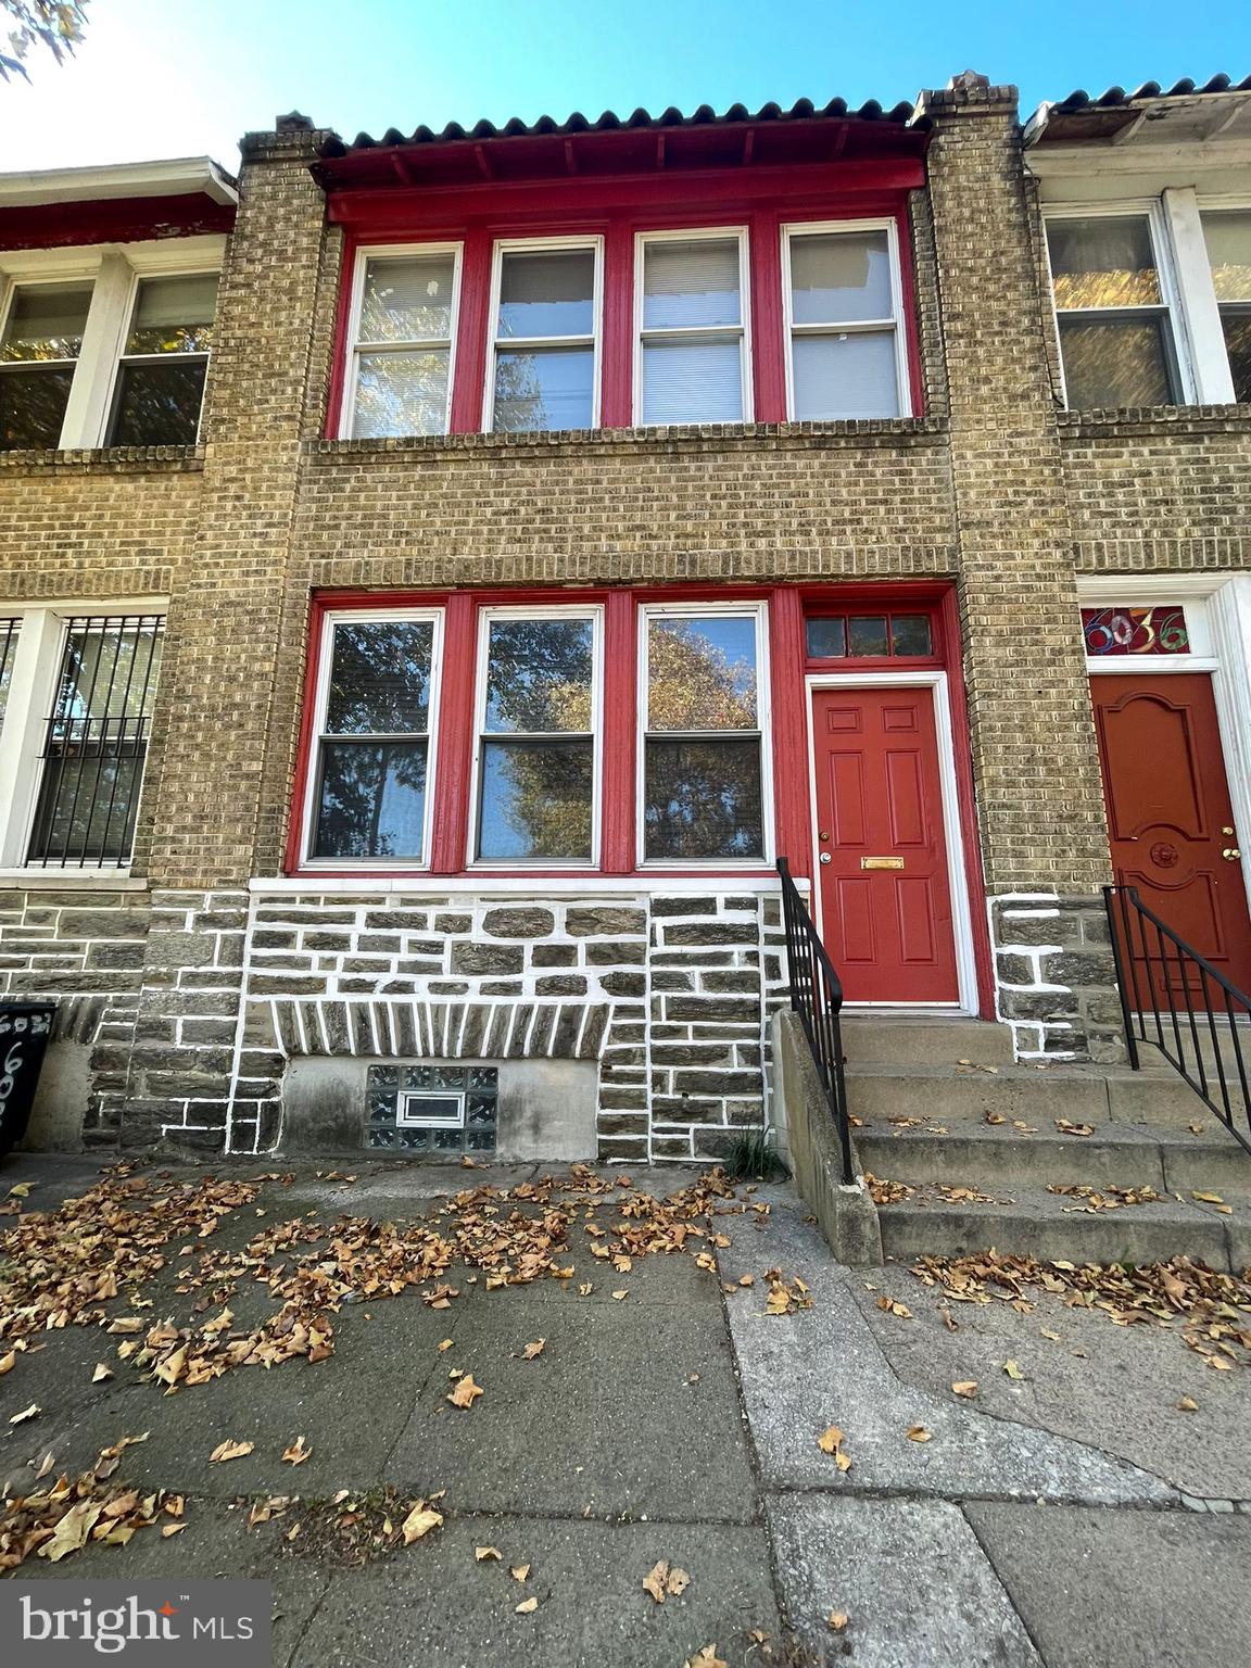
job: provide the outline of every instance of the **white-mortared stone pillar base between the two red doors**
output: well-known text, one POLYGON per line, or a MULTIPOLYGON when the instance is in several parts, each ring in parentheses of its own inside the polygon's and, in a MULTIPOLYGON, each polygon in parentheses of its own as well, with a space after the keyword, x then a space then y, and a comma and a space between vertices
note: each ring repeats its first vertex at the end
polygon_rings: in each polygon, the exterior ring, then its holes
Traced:
POLYGON ((1124 1026, 1099 894, 989 901, 996 1011, 1017 1059, 1123 1061, 1124 1026))

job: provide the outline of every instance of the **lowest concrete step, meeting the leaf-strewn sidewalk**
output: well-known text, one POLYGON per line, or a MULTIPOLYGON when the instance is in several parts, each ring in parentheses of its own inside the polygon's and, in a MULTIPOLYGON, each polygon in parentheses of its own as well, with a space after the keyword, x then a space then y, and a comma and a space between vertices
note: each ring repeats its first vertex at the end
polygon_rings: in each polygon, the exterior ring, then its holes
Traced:
POLYGON ((1004 1188, 992 1204, 882 1204, 882 1251, 899 1261, 989 1249, 1048 1263, 1168 1263, 1189 1256, 1238 1273, 1251 1256, 1244 1201, 1236 1219, 1176 1199, 1096 1213, 1081 1209, 1081 1203, 1041 1188, 1004 1188))

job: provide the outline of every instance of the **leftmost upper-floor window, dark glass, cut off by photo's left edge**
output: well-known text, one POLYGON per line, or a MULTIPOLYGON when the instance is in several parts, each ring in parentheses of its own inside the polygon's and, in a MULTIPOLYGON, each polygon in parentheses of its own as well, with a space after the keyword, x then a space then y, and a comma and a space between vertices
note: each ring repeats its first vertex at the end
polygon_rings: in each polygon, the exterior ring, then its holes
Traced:
POLYGON ((0 450, 60 445, 90 284, 15 284, 0 330, 0 450))

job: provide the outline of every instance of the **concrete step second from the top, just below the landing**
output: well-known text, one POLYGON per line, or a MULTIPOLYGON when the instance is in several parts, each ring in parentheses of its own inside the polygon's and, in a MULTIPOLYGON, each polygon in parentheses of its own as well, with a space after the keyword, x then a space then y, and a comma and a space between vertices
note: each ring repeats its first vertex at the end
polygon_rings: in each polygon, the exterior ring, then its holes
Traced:
POLYGON ((889 1118, 927 1123, 982 1123, 997 1113, 1009 1123, 1058 1118, 1074 1124, 1161 1124, 1184 1129, 1211 1113, 1176 1071, 1129 1071, 1116 1066, 999 1066, 994 1071, 951 1066, 847 1063, 847 1106, 866 1124, 889 1118))

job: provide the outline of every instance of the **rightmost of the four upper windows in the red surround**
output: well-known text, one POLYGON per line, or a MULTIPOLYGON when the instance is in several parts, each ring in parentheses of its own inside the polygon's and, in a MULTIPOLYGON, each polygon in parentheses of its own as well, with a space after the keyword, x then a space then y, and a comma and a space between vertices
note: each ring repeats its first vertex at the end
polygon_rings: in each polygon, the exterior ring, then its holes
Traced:
POLYGON ((782 227, 796 422, 909 415, 894 222, 782 227))

